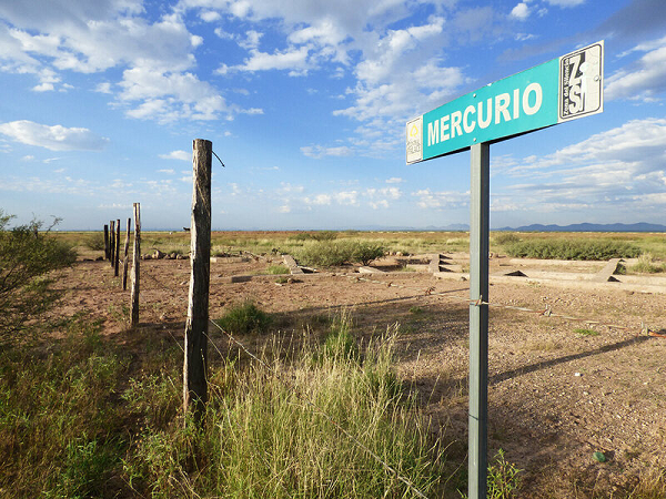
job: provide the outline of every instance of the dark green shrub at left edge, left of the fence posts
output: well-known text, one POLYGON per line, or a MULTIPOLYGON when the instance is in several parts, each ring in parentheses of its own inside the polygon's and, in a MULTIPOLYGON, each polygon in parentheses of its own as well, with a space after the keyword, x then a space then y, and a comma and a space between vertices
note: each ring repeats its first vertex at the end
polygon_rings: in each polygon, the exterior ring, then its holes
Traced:
POLYGON ((12 216, 0 210, 0 343, 31 330, 60 294, 50 286, 51 271, 71 265, 77 254, 50 234, 41 222, 8 228, 12 216))

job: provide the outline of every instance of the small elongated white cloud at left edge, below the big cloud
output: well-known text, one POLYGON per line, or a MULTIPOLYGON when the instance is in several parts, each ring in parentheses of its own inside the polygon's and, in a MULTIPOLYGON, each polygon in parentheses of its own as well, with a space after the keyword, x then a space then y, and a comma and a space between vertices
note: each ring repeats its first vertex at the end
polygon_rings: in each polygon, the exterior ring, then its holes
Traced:
POLYGON ((2 123, 0 133, 17 142, 51 151, 100 151, 109 143, 109 139, 99 136, 88 129, 49 126, 28 120, 2 123))

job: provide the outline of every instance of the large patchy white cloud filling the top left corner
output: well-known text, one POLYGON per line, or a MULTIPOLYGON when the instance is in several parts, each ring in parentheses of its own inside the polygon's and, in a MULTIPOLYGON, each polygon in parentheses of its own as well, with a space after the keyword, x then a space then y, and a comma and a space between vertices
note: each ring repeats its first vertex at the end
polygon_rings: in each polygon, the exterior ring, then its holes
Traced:
MULTIPOLYGON (((127 115, 163 123, 258 113, 229 105, 216 89, 188 71, 195 68, 193 51, 204 40, 189 32, 179 8, 151 21, 139 0, 100 0, 93 2, 94 13, 85 17, 81 12, 91 12, 89 6, 79 0, 59 6, 63 2, 0 4, 0 18, 13 26, 0 26, 0 53, 6 59, 0 71, 32 73, 39 79, 32 90, 47 92, 72 88, 61 82, 65 70, 122 70, 121 82, 99 83, 95 91, 118 90, 117 103, 127 115), (80 11, 74 8, 79 3, 80 11)), ((220 14, 209 9, 201 17, 212 22, 220 14)))

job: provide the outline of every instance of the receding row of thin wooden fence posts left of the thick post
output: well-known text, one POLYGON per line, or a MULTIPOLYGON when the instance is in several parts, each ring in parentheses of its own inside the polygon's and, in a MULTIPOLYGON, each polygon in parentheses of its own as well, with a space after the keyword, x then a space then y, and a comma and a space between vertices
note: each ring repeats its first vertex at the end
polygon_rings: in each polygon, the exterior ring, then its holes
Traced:
MULTIPOLYGON (((141 261, 141 206, 133 204, 134 210, 134 247, 132 255, 131 274, 131 294, 130 294, 130 325, 139 324, 139 262, 141 261)), ((122 258, 122 288, 128 288, 128 268, 130 249, 130 232, 132 230, 132 218, 128 218, 125 231, 124 255, 122 258)), ((120 218, 112 220, 109 225, 104 225, 104 258, 111 263, 113 275, 120 276, 120 218)))

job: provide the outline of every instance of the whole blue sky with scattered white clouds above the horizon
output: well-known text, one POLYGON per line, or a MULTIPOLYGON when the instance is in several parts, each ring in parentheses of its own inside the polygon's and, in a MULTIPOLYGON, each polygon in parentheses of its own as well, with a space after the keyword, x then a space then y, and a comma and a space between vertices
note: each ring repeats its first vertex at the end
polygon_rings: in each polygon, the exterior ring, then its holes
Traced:
POLYGON ((61 230, 468 222, 470 153, 405 122, 605 40, 605 111, 491 146, 491 226, 664 222, 664 0, 0 0, 0 208, 61 230))

